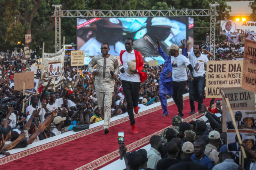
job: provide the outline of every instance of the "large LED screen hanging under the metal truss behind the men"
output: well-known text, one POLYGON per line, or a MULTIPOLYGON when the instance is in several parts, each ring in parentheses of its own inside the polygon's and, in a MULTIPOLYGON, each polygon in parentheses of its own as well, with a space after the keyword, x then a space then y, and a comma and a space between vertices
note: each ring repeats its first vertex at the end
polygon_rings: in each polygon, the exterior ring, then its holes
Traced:
POLYGON ((77 50, 85 55, 101 54, 100 45, 108 43, 109 53, 119 55, 125 50, 126 38, 133 39, 133 48, 143 56, 157 56, 155 35, 168 54, 167 47, 181 45, 186 39, 193 46, 193 18, 190 17, 152 17, 152 18, 77 18, 77 50))

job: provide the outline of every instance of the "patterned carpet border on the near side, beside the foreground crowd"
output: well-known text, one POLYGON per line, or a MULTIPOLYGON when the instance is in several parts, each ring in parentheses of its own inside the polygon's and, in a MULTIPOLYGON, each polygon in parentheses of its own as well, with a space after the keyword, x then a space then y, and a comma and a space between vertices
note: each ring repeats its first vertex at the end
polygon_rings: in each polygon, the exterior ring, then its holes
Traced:
MULTIPOLYGON (((185 119, 183 119, 183 122, 190 122, 193 120, 193 118, 199 118, 201 117, 203 114, 199 114, 198 112, 196 114, 193 114, 185 119)), ((172 128, 173 125, 167 126, 166 128, 172 128)), ((129 145, 126 146, 127 148, 127 152, 130 151, 134 151, 134 150, 138 150, 139 148, 141 148, 143 145, 146 145, 149 143, 150 138, 153 135, 160 135, 166 128, 163 128, 162 130, 155 132, 149 136, 146 136, 145 138, 140 139, 139 141, 135 141, 129 145)), ((97 167, 100 167, 104 164, 107 164, 108 162, 116 159, 117 157, 120 157, 120 153, 119 150, 113 151, 110 154, 104 155, 103 157, 100 157, 96 160, 93 160, 92 162, 83 165, 82 167, 76 168, 75 170, 94 170, 97 167)))

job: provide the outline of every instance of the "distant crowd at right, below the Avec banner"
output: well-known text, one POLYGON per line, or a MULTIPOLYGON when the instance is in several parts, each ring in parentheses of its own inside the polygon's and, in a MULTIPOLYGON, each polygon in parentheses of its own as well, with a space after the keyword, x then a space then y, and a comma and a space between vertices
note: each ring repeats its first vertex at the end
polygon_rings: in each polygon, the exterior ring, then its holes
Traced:
MULTIPOLYGON (((202 45, 202 49, 210 51, 210 43, 205 42, 202 45)), ((230 44, 227 42, 216 42, 215 56, 216 60, 232 60, 235 57, 243 56, 244 44, 230 44)))

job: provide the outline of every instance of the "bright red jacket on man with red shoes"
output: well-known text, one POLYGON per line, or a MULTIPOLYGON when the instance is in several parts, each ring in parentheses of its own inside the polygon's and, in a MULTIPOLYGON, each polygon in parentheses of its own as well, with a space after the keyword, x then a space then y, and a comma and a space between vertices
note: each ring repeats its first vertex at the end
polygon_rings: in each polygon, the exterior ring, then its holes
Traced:
MULTIPOLYGON (((125 50, 122 50, 120 52, 120 61, 123 65, 122 55, 125 52, 125 50)), ((134 50, 135 53, 135 60, 136 60, 136 70, 138 71, 138 74, 140 75, 140 83, 143 83, 147 79, 147 74, 143 72, 143 58, 139 51, 134 50)))

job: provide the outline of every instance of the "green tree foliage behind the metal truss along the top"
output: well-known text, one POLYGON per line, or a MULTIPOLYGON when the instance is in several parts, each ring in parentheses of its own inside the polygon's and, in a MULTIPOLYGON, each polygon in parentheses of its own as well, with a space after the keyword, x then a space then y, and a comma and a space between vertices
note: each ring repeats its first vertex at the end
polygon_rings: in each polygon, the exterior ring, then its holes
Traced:
MULTIPOLYGON (((229 17, 230 6, 225 0, 217 2, 217 19, 229 17)), ((45 52, 54 52, 53 4, 61 4, 62 10, 190 10, 209 9, 209 3, 215 0, 0 0, 0 50, 13 48, 18 41, 25 44, 25 34, 31 33, 30 48, 37 55, 41 55, 43 42, 45 52)), ((209 26, 209 17, 194 17, 194 27, 209 26)), ((206 32, 209 28, 194 29, 194 39, 204 39, 206 32)), ((61 18, 61 36, 66 44, 76 42, 76 18, 61 18)))

